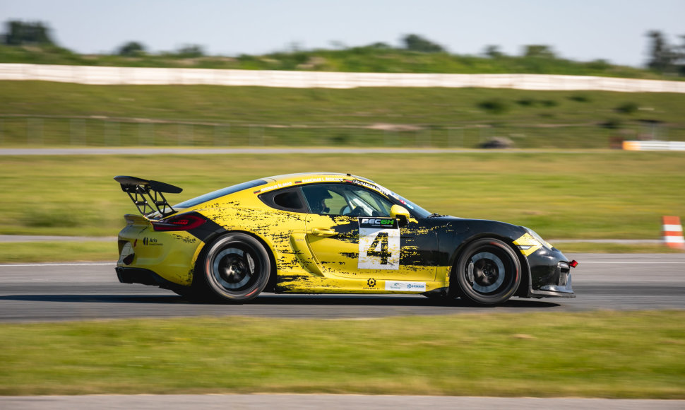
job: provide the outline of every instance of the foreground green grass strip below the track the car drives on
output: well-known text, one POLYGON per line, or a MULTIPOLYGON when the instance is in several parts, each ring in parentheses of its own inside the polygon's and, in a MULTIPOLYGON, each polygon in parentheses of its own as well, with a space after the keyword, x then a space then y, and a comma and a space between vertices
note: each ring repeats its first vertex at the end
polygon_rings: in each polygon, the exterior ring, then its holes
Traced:
POLYGON ((0 324, 0 394, 684 399, 684 321, 665 311, 0 324))

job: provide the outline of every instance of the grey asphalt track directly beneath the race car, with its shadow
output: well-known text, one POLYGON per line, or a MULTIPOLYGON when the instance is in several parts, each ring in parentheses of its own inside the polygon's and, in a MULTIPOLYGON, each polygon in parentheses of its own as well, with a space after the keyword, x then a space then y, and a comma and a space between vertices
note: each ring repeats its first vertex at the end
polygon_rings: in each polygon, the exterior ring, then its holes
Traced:
POLYGON ((685 254, 569 254, 577 298, 520 299, 494 308, 421 295, 273 295, 245 305, 190 303, 117 281, 113 263, 0 265, 0 322, 239 315, 290 318, 685 309, 685 254))

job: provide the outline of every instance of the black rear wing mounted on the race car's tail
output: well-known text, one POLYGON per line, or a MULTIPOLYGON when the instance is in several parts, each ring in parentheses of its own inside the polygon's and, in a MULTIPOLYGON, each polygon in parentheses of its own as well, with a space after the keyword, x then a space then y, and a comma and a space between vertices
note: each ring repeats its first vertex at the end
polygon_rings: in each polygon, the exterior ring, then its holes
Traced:
POLYGON ((114 180, 121 184, 121 190, 129 194, 129 198, 131 198, 133 204, 138 208, 138 212, 142 213, 143 216, 157 211, 164 218, 176 212, 169 205, 162 192, 166 194, 179 194, 183 191, 179 187, 174 187, 174 185, 165 184, 164 182, 148 181, 136 177, 120 175, 114 177, 114 180))

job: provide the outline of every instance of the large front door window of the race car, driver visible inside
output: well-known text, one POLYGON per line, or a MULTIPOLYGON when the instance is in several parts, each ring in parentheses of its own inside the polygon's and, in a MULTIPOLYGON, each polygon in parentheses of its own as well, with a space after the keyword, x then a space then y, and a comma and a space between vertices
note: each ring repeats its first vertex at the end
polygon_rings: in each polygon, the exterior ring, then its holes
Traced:
POLYGON ((302 187, 309 209, 321 215, 390 216, 391 202, 381 194, 345 184, 302 187))

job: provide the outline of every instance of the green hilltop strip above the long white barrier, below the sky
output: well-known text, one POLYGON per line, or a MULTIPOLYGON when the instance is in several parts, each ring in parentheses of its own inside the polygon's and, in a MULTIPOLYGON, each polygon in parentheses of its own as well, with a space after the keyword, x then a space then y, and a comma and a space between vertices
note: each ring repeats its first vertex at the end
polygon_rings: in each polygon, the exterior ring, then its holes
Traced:
POLYGON ((244 54, 238 57, 179 53, 141 53, 135 57, 124 57, 109 54, 82 55, 55 46, 0 45, 0 63, 376 73, 564 74, 668 80, 681 78, 629 66, 616 66, 603 60, 571 61, 554 55, 477 57, 374 46, 265 55, 244 54))

